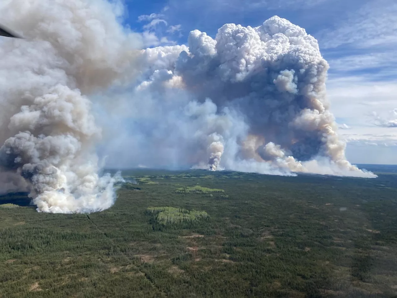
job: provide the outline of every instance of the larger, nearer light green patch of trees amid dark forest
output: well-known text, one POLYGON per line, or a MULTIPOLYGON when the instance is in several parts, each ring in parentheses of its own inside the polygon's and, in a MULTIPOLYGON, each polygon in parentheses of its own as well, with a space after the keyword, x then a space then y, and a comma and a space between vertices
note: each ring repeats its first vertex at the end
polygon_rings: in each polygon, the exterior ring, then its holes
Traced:
POLYGON ((148 213, 156 215, 156 221, 163 225, 199 221, 210 217, 205 211, 189 211, 174 207, 149 207, 146 210, 148 213))

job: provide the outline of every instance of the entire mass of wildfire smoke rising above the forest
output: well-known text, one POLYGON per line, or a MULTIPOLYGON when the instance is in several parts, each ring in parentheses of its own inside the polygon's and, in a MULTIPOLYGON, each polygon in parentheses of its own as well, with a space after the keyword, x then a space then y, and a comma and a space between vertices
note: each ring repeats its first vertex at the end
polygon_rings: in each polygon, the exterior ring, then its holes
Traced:
POLYGON ((26 37, 0 40, 1 192, 26 190, 44 212, 110 207, 121 178, 99 175, 103 134, 110 166, 375 176, 345 159, 328 64, 304 29, 272 17, 136 51, 121 15, 117 0, 0 3, 26 37))

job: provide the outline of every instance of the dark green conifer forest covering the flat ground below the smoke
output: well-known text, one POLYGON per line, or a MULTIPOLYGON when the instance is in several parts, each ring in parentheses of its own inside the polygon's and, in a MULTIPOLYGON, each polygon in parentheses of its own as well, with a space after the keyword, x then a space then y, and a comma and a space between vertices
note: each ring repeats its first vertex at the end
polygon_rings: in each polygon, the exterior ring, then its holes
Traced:
POLYGON ((91 214, 2 195, 0 297, 394 297, 391 172, 128 170, 138 184, 91 214))

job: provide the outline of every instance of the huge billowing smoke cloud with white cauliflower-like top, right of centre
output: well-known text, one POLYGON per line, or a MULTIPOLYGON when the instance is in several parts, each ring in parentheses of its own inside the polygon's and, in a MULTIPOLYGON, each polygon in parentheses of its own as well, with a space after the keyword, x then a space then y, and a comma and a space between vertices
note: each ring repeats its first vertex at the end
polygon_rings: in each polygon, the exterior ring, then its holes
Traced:
POLYGON ((104 149, 110 164, 128 147, 126 159, 152 167, 375 177, 346 160, 326 99, 328 63, 286 19, 226 24, 215 39, 195 30, 187 47, 143 50, 140 61, 142 82, 119 95, 130 118, 104 149))

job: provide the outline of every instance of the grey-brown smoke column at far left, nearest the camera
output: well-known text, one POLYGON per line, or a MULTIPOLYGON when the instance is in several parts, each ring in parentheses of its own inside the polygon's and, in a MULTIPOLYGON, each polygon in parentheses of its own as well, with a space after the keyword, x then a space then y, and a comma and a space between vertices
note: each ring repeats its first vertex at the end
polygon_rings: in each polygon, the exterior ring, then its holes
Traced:
POLYGON ((101 130, 87 95, 114 83, 133 58, 120 8, 105 0, 0 4, 2 22, 26 38, 0 44, 1 191, 29 191, 38 211, 114 203, 119 178, 98 175, 101 130))

